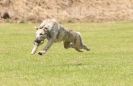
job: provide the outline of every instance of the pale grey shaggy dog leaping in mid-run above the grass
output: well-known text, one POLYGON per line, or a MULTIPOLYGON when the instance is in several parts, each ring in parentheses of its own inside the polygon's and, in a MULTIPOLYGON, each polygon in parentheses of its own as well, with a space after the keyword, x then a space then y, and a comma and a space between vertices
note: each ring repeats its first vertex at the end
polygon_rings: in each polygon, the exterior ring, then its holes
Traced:
POLYGON ((78 52, 82 52, 81 49, 90 50, 83 43, 79 32, 65 29, 56 20, 44 20, 36 29, 36 39, 31 54, 36 53, 38 46, 41 45, 45 39, 47 39, 48 42, 43 50, 38 52, 39 55, 45 54, 54 42, 60 41, 63 41, 64 48, 66 49, 74 48, 78 52))

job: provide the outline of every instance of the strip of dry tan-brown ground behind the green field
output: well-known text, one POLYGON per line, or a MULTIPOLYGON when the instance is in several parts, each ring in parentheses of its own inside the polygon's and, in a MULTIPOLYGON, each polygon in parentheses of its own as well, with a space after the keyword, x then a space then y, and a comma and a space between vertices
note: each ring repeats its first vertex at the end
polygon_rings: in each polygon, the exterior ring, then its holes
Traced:
POLYGON ((67 22, 133 20, 133 0, 0 0, 0 21, 40 22, 46 18, 67 22))

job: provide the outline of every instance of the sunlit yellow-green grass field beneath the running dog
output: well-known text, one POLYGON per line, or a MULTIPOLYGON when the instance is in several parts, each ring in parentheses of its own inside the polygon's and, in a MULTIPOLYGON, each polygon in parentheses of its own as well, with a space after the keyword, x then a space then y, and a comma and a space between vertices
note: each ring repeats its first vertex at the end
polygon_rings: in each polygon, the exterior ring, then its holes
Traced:
POLYGON ((65 24, 91 51, 56 43, 45 56, 30 55, 34 26, 0 24, 0 86, 133 86, 132 22, 65 24))

